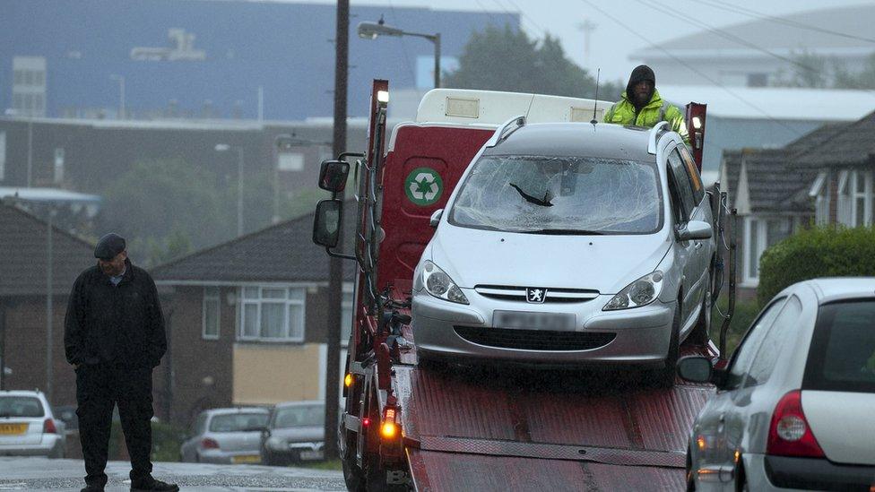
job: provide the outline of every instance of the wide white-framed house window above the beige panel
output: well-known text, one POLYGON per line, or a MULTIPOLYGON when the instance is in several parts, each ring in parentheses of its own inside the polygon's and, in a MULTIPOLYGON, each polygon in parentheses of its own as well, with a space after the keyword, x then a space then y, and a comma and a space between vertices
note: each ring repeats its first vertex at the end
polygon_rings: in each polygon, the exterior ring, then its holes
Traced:
POLYGON ((240 340, 304 341, 304 288, 241 289, 240 340))

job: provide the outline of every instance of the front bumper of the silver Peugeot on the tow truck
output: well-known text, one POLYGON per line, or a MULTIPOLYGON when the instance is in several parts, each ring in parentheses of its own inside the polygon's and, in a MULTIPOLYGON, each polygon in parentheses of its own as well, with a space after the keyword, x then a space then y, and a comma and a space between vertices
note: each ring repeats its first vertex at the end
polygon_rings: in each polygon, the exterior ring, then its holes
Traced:
MULTIPOLYGON (((657 299, 647 306, 607 312, 602 311, 602 306, 613 296, 603 295, 574 304, 528 304, 486 298, 473 289, 463 289, 463 293, 471 301, 470 305, 433 298, 425 290, 414 293, 413 337, 422 357, 659 366, 668 353, 676 306, 673 302, 663 303, 657 299), (475 343, 471 337, 466 339, 459 334, 457 327, 460 326, 467 332, 473 328, 496 330, 492 323, 495 310, 571 313, 576 318, 576 333, 612 333, 614 336, 606 344, 588 350, 529 350, 475 343)), ((513 331, 502 332, 513 336, 513 331)), ((545 336, 549 334, 545 332, 545 336)), ((568 332, 561 334, 567 336, 568 332)))

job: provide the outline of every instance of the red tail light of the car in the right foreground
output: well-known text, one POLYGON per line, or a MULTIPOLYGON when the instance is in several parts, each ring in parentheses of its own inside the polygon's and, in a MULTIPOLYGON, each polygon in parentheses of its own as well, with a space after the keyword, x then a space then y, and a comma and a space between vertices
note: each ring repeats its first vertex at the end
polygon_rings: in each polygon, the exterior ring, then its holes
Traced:
POLYGON ((793 390, 785 394, 775 406, 772 424, 768 428, 766 453, 775 456, 825 457, 802 411, 801 391, 793 390))

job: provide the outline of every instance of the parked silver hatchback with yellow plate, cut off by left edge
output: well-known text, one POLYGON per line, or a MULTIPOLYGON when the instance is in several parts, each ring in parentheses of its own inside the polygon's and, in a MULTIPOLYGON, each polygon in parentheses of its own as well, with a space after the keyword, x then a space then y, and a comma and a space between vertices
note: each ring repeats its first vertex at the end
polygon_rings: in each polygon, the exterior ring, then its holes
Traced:
POLYGON ((38 391, 0 391, 0 455, 63 458, 64 423, 38 391))

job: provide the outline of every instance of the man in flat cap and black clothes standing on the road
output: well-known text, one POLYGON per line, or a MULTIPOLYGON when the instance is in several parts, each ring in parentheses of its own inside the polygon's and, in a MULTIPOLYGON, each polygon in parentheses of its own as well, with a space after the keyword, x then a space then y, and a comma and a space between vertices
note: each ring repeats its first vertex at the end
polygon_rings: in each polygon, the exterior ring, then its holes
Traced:
POLYGON ((82 490, 106 487, 116 405, 131 456, 131 490, 179 490, 152 478, 152 368, 167 351, 155 282, 127 258, 125 239, 117 234, 100 238, 94 256, 98 263, 74 283, 64 332, 67 362, 76 370, 87 473, 82 490))

